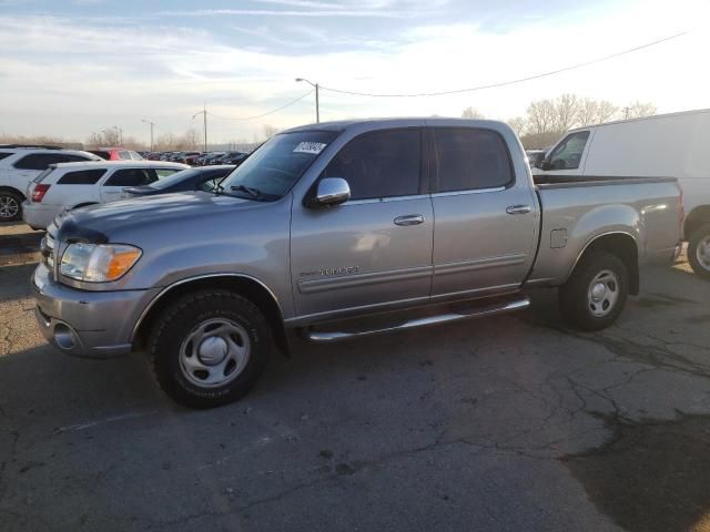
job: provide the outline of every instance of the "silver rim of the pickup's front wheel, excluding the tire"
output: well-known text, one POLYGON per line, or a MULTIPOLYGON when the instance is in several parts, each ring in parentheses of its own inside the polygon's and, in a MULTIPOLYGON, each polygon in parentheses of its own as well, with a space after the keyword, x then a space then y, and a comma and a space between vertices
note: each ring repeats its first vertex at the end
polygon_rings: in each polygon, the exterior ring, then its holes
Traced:
POLYGON ((248 362, 246 329, 231 319, 207 319, 185 337, 180 347, 180 369, 200 388, 216 388, 236 379, 248 362))

